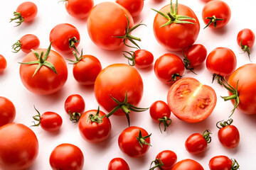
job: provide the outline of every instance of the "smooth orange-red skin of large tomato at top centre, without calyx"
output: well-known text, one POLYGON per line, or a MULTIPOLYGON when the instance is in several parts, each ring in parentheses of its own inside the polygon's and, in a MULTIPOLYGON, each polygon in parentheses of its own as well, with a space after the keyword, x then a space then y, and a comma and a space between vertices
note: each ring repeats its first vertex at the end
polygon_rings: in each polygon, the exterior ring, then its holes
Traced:
POLYGON ((124 45, 127 18, 129 28, 134 26, 131 14, 126 8, 114 2, 102 2, 92 8, 87 19, 87 31, 92 42, 104 50, 118 50, 124 45), (100 22, 99 22, 100 21, 100 22))

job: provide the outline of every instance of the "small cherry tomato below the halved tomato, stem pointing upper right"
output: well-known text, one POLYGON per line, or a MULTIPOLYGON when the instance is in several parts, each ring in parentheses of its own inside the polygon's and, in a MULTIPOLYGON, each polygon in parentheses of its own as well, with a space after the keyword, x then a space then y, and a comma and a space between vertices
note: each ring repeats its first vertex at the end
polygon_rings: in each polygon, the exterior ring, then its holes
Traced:
POLYGON ((203 135, 200 133, 193 133, 188 137, 185 142, 186 150, 191 154, 200 154, 206 150, 207 144, 210 143, 210 130, 203 132, 203 135))

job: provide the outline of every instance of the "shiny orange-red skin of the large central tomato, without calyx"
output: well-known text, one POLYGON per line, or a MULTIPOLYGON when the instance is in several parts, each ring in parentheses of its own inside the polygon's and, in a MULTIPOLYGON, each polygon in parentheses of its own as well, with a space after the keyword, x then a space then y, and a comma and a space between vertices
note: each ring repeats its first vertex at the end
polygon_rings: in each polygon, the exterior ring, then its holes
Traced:
MULTIPOLYGON (((111 96, 123 102, 126 93, 128 103, 138 106, 143 95, 143 81, 137 69, 128 64, 111 64, 102 69, 95 80, 95 98, 100 106, 110 112, 117 106, 111 96)), ((119 109, 114 115, 124 115, 124 112, 119 109)))

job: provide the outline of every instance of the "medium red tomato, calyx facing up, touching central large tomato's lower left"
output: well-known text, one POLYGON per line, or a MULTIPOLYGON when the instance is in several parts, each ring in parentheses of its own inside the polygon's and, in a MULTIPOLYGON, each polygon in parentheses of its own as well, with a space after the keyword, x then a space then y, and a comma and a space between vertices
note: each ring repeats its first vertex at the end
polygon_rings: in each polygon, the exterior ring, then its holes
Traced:
POLYGON ((111 123, 106 114, 100 110, 90 110, 82 114, 78 128, 82 139, 97 143, 107 139, 110 135, 111 123))

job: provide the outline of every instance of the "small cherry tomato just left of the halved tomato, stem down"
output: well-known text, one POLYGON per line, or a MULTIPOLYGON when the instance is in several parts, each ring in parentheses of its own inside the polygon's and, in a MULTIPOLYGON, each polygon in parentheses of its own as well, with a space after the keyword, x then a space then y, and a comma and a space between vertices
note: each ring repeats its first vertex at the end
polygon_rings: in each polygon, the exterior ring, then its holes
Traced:
POLYGON ((171 125, 171 111, 169 109, 169 106, 164 101, 155 101, 151 104, 149 113, 151 118, 159 123, 159 129, 161 131, 160 125, 163 123, 164 125, 164 131, 166 131, 166 128, 171 125))

